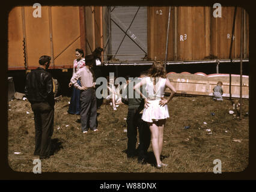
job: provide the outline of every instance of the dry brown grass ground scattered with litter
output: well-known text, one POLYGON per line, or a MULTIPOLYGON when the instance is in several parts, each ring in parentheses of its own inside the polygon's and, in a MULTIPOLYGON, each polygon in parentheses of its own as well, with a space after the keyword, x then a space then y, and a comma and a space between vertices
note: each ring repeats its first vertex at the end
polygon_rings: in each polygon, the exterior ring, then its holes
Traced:
MULTIPOLYGON (((230 100, 217 102, 210 97, 174 97, 168 104, 171 118, 166 122, 162 152, 163 163, 169 166, 161 170, 153 166, 151 145, 148 164, 127 160, 124 132, 127 106, 121 105, 114 111, 103 105, 98 110, 99 132, 88 131, 84 135, 77 116, 67 113, 69 100, 63 97, 55 105, 52 136, 55 154, 42 160, 42 172, 213 172, 215 159, 222 161, 222 172, 242 172, 248 166, 249 119, 246 116, 239 120, 230 115, 228 111, 233 110, 230 100), (185 129, 187 125, 190 128, 185 129), (207 129, 212 134, 207 134, 207 129)), ((16 172, 32 172, 32 162, 38 158, 33 156, 34 115, 28 101, 13 100, 8 104, 10 167, 16 172)), ((248 110, 249 101, 243 100, 243 114, 248 110)))

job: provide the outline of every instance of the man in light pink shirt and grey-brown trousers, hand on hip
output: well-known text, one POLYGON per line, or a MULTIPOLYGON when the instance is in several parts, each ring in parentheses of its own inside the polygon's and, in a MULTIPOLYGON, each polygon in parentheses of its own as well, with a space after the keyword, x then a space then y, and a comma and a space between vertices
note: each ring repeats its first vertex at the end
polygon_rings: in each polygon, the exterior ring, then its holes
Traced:
POLYGON ((95 77, 94 72, 91 70, 93 66, 93 55, 85 56, 85 67, 81 68, 75 73, 70 80, 75 86, 81 90, 81 125, 83 133, 88 133, 88 129, 93 131, 97 130, 97 101, 95 93, 95 77), (79 86, 77 81, 81 81, 79 86))

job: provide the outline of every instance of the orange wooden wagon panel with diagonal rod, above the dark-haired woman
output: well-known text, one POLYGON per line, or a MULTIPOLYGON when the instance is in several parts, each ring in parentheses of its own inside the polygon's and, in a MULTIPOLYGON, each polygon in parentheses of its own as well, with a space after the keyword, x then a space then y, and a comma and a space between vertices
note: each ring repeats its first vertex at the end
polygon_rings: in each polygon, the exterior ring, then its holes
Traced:
POLYGON ((72 65, 81 48, 79 7, 52 7, 55 65, 72 65))

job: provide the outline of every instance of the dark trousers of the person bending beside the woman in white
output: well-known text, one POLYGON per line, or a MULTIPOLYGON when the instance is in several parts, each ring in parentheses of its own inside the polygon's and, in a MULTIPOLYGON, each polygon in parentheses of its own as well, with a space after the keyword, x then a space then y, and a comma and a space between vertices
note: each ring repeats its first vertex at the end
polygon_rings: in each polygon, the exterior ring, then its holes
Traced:
POLYGON ((150 129, 147 122, 141 119, 142 114, 139 109, 128 109, 127 115, 127 157, 134 157, 136 155, 137 142, 137 127, 139 131, 139 159, 145 158, 147 149, 150 146, 150 129))

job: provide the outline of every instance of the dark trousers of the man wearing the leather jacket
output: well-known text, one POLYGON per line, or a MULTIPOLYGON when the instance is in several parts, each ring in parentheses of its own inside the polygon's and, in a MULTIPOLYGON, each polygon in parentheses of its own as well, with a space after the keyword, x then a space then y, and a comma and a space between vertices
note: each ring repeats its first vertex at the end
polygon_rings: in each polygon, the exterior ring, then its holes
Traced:
POLYGON ((40 158, 49 157, 52 153, 50 138, 53 134, 54 106, 47 102, 31 103, 35 121, 35 151, 40 158))

